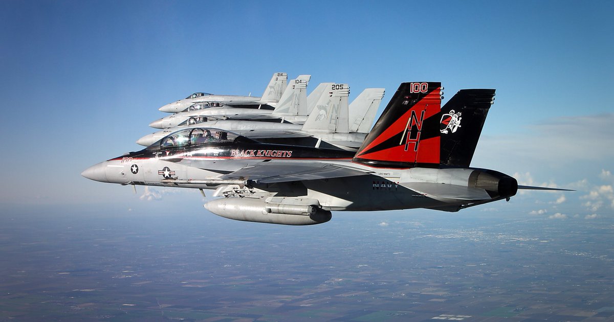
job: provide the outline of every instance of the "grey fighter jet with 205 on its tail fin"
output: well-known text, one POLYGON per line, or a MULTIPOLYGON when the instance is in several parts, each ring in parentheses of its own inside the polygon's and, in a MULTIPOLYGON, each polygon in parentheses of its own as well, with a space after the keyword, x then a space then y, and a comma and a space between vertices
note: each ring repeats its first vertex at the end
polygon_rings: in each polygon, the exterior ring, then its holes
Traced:
MULTIPOLYGON (((297 88, 304 87, 297 86, 297 88)), ((297 88, 287 89, 284 96, 297 90, 297 88)), ((280 123, 279 121, 231 120, 207 115, 194 115, 178 126, 141 137, 136 143, 149 146, 162 137, 181 129, 212 127, 265 140, 268 143, 287 142, 293 145, 315 147, 322 145, 322 141, 324 141, 324 145, 329 144, 328 147, 331 148, 356 150, 362 144, 375 120, 375 113, 384 96, 384 89, 367 88, 349 105, 348 94, 349 86, 347 84, 330 83, 327 92, 322 93, 319 101, 313 104, 314 107, 317 105, 317 108, 310 107, 312 109, 311 116, 305 125, 280 123), (343 122, 343 124, 340 125, 339 122, 343 122)), ((298 99, 288 100, 284 104, 281 104, 282 101, 280 101, 281 105, 275 110, 274 115, 281 115, 281 113, 277 113, 278 109, 281 109, 288 117, 295 114, 292 111, 298 112, 305 103, 301 103, 304 99, 300 99, 300 95, 295 97, 298 97, 298 99)))

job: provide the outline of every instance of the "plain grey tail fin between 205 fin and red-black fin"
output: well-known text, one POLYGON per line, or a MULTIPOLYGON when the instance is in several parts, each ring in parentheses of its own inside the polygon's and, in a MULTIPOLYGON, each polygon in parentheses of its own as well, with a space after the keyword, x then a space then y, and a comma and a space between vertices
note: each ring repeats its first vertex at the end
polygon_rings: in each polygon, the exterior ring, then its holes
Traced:
POLYGON ((383 97, 384 88, 366 88, 349 104, 350 132, 369 132, 383 97))

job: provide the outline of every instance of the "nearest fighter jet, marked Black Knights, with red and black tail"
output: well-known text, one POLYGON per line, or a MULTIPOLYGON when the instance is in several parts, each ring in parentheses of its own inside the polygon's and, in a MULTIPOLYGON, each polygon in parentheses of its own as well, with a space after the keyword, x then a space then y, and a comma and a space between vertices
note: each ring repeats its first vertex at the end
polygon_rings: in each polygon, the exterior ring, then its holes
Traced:
MULTIPOLYGON (((96 164, 100 182, 214 189, 204 207, 222 217, 319 224, 332 211, 426 208, 456 212, 502 199, 519 186, 501 172, 470 167, 494 90, 459 92, 441 109, 441 83, 402 83, 356 153, 262 144, 196 128, 96 164), (453 105, 451 105, 453 106, 453 105)), ((204 193, 203 193, 204 194, 204 193)))

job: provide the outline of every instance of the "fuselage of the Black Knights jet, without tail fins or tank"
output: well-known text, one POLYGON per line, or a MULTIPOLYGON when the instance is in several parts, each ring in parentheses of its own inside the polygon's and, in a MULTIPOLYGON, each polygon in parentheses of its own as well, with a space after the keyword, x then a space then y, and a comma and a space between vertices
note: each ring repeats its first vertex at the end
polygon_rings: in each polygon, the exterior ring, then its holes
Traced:
POLYGON ((141 151, 96 164, 82 175, 122 185, 213 189, 216 196, 226 197, 265 198, 278 193, 290 194, 316 199, 325 210, 443 209, 466 204, 471 198, 486 201, 503 194, 515 194, 513 185, 502 185, 500 177, 507 176, 498 172, 420 167, 382 169, 354 163, 353 156, 349 151, 262 144, 241 136, 232 141, 171 147, 166 147, 161 140, 141 151), (325 163, 363 174, 277 183, 260 183, 250 180, 249 176, 242 179, 244 183, 222 178, 225 174, 263 163, 270 166, 268 169, 275 169, 277 164, 283 167, 296 164, 298 169, 304 164, 325 163), (483 177, 478 179, 479 175, 483 177), (481 192, 476 193, 477 188, 481 192))

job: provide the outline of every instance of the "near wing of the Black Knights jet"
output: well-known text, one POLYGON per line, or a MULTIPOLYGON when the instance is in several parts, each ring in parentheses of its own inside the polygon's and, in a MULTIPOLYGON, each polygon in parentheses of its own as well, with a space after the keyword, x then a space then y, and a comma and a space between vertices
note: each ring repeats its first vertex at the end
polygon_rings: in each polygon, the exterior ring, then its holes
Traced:
POLYGON ((222 175, 223 180, 253 180, 258 183, 291 182, 327 178, 367 175, 365 172, 345 166, 328 163, 293 162, 276 164, 263 162, 243 167, 230 174, 222 175))

